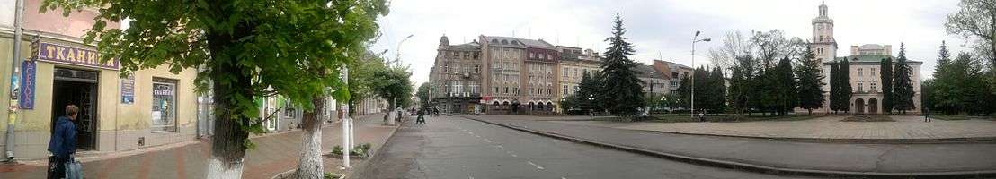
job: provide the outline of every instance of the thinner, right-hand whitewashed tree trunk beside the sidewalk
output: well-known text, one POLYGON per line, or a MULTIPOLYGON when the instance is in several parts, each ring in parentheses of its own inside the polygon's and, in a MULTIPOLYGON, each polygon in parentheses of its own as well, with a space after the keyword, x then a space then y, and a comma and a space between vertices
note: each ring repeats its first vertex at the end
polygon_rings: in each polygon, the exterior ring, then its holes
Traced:
POLYGON ((301 125, 305 134, 302 135, 301 158, 298 159, 298 178, 322 178, 325 174, 322 167, 322 120, 318 117, 325 107, 323 101, 321 96, 314 97, 312 105, 315 109, 302 115, 301 125))

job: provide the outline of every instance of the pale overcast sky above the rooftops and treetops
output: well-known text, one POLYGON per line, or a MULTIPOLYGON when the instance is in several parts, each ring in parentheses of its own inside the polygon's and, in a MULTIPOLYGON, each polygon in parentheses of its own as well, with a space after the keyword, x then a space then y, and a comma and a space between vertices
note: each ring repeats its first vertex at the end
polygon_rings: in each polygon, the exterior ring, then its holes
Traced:
MULTIPOLYGON (((542 39, 605 51, 615 13, 622 15, 625 37, 635 45, 630 56, 649 63, 663 58, 691 64, 691 38, 722 39, 726 32, 785 31, 787 37, 812 37, 811 20, 821 0, 393 0, 390 14, 379 20, 382 36, 374 51, 388 49, 394 58, 398 43, 401 61, 411 65, 415 85, 428 80, 440 36, 450 45, 470 43, 480 35, 542 39), (658 57, 660 56, 660 57, 658 57)), ((957 0, 829 0, 835 22, 838 56, 850 55, 851 45, 906 44, 912 60, 923 61, 929 78, 937 49, 947 41, 952 53, 966 49, 965 40, 948 36, 943 24, 957 11, 957 0)), ((721 42, 698 44, 695 64, 711 64, 705 51, 721 42)))

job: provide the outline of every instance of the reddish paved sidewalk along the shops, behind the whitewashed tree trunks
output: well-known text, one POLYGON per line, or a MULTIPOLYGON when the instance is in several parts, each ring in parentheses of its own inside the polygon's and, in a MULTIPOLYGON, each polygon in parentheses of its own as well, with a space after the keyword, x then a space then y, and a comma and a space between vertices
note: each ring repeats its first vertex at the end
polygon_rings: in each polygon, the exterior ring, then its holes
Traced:
MULTIPOLYGON (((370 142, 372 151, 377 151, 386 142, 396 127, 383 127, 379 116, 365 116, 356 120, 357 143, 370 142)), ((269 179, 274 175, 297 167, 301 151, 302 131, 268 134, 254 137, 256 148, 246 152, 243 178, 269 179)), ((323 153, 342 144, 340 123, 322 128, 323 153)), ((132 151, 133 152, 133 151, 132 151)), ((203 178, 207 159, 210 157, 210 142, 202 140, 191 144, 168 148, 137 151, 122 156, 108 155, 92 159, 82 159, 87 178, 203 178)), ((23 161, 22 164, 0 164, 0 178, 45 178, 46 161, 23 161)), ((365 160, 354 160, 354 165, 365 160)), ((341 172, 342 160, 323 157, 326 172, 341 172)))

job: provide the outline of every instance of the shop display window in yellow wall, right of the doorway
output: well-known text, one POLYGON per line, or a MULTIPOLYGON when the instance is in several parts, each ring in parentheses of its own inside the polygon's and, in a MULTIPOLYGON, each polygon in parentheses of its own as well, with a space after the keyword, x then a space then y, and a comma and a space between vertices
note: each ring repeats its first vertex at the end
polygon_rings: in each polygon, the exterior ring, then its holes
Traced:
POLYGON ((176 131, 176 80, 152 78, 152 132, 176 131))

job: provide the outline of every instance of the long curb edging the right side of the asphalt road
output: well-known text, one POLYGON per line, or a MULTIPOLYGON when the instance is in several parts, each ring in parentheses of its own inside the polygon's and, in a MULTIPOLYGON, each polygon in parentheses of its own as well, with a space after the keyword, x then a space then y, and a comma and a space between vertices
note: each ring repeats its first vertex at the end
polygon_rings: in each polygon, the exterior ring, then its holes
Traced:
POLYGON ((679 160, 679 161, 688 162, 688 163, 717 166, 717 167, 722 167, 722 168, 733 168, 733 169, 744 169, 744 170, 751 170, 751 171, 759 171, 759 172, 762 172, 762 173, 786 173, 786 174, 799 174, 799 175, 812 175, 812 176, 831 176, 831 177, 841 177, 841 176, 867 177, 867 176, 873 176, 873 177, 887 177, 887 178, 907 178, 907 177, 910 177, 910 176, 920 176, 920 177, 929 177, 929 178, 950 178, 950 177, 971 178, 971 177, 984 177, 984 176, 986 176, 986 177, 993 177, 993 176, 996 176, 996 170, 951 171, 951 172, 885 173, 885 172, 857 172, 857 171, 840 171, 840 170, 815 170, 815 169, 783 168, 783 167, 774 167, 774 166, 766 166, 766 165, 758 165, 758 164, 751 164, 751 163, 743 163, 743 162, 727 161, 727 160, 719 160, 719 159, 710 159, 710 158, 703 158, 703 157, 696 157, 696 156, 688 156, 688 155, 681 155, 681 154, 675 154, 675 153, 667 153, 667 152, 661 152, 661 151, 654 151, 654 150, 645 149, 645 148, 639 148, 639 147, 633 147, 633 146, 625 146, 625 145, 620 145, 620 144, 613 144, 613 143, 608 143, 608 142, 596 141, 596 140, 593 140, 593 139, 586 139, 586 138, 581 138, 581 137, 574 137, 574 136, 565 135, 565 134, 556 134, 556 133, 547 133, 547 132, 541 132, 541 131, 536 131, 536 130, 529 130, 528 128, 522 128, 522 127, 517 127, 517 126, 512 126, 512 125, 498 124, 498 123, 488 122, 486 120, 473 119, 473 118, 469 118, 469 117, 466 117, 466 116, 461 116, 461 117, 465 118, 465 119, 469 119, 469 120, 473 120, 473 121, 485 123, 485 124, 491 124, 491 125, 495 125, 495 126, 499 126, 499 127, 505 127, 505 128, 508 128, 508 129, 512 129, 512 130, 516 130, 516 131, 521 131, 521 132, 526 132, 526 133, 530 133, 530 134, 539 134, 539 135, 544 135, 544 136, 550 136, 550 137, 560 138, 560 139, 574 141, 574 142, 580 142, 580 143, 587 143, 587 144, 592 144, 592 145, 598 145, 598 146, 603 146, 603 147, 608 147, 608 148, 619 149, 619 150, 623 150, 623 151, 629 151, 629 152, 634 152, 634 153, 652 155, 652 156, 657 156, 657 157, 667 158, 667 159, 674 159, 674 160, 679 160))

